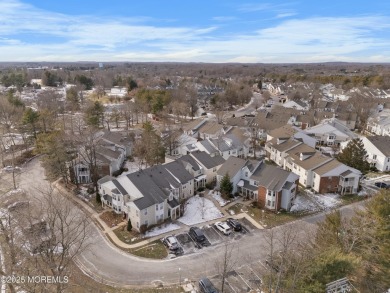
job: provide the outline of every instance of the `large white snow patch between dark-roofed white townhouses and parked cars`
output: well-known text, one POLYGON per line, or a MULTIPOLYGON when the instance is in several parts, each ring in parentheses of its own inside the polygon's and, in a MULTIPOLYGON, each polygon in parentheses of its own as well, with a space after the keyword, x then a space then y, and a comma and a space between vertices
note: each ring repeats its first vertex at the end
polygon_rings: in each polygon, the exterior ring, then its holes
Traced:
POLYGON ((186 225, 195 225, 222 217, 223 214, 211 200, 196 195, 187 201, 184 215, 178 221, 186 225))

